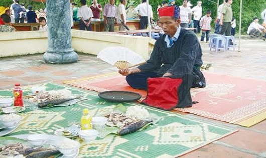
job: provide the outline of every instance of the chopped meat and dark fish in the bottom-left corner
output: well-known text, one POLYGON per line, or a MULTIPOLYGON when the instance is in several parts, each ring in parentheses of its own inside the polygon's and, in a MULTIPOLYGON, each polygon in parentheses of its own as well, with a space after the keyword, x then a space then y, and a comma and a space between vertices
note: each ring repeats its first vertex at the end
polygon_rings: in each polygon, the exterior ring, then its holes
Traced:
POLYGON ((0 157, 38 157, 48 158, 53 155, 60 154, 60 151, 55 148, 45 147, 28 147, 22 143, 13 143, 6 146, 0 147, 0 157))

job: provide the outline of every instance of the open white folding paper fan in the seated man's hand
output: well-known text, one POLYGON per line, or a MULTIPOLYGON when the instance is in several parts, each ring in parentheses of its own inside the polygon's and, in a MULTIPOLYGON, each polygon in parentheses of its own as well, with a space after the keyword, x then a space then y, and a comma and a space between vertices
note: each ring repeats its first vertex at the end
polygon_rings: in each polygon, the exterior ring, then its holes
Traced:
POLYGON ((138 66, 146 62, 139 54, 124 47, 104 48, 98 53, 97 58, 119 69, 138 66))

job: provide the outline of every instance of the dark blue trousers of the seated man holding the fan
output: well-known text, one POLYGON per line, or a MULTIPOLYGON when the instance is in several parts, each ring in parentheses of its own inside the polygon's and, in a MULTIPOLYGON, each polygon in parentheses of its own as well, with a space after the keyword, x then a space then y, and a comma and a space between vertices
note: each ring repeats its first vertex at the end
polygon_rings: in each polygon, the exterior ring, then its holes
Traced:
POLYGON ((125 80, 129 86, 135 89, 145 89, 147 90, 147 79, 154 77, 162 77, 154 72, 141 72, 130 74, 125 77, 125 80))

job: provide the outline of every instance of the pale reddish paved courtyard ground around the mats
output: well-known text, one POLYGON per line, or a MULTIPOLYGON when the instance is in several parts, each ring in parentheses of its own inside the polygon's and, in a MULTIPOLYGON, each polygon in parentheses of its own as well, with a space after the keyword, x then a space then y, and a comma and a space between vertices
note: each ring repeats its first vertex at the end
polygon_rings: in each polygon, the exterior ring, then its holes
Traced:
MULTIPOLYGON (((208 71, 266 81, 266 42, 261 39, 245 39, 241 40, 240 44, 241 52, 237 51, 238 46, 236 46, 235 51, 214 53, 209 51, 207 43, 202 43, 203 60, 213 62, 213 67, 208 71)), ((22 85, 50 81, 62 83, 65 80, 113 71, 116 71, 116 68, 93 55, 86 54, 79 54, 77 63, 64 65, 44 63, 42 54, 0 58, 0 89, 13 88, 15 83, 22 85)), ((181 157, 266 157, 265 120, 245 128, 194 114, 188 116, 239 131, 181 157)))

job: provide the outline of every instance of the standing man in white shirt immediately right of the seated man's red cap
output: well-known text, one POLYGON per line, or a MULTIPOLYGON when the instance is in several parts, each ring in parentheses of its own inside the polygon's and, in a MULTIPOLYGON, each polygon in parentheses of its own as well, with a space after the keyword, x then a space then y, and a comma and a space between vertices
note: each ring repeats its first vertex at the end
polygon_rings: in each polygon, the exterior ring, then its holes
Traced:
POLYGON ((180 26, 182 28, 188 28, 188 24, 191 20, 191 9, 190 7, 187 6, 188 1, 187 0, 183 0, 183 5, 179 6, 180 8, 180 26))

